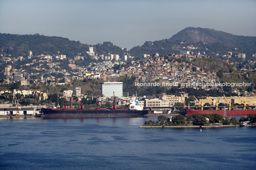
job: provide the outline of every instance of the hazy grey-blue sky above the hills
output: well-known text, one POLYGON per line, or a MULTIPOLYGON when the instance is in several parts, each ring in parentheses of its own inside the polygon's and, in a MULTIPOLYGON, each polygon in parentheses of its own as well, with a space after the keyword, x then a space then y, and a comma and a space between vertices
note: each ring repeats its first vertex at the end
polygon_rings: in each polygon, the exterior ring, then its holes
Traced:
POLYGON ((0 33, 129 49, 186 27, 256 36, 256 0, 0 0, 0 33))

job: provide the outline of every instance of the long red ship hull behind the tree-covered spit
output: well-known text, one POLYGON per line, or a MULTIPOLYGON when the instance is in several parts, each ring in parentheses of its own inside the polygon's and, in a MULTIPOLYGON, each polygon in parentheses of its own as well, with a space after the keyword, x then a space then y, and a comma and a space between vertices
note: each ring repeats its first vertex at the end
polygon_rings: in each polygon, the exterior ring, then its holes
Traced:
POLYGON ((190 116, 192 114, 219 114, 221 116, 246 116, 248 114, 256 114, 256 110, 246 109, 246 110, 197 110, 197 109, 187 109, 185 116, 190 116))

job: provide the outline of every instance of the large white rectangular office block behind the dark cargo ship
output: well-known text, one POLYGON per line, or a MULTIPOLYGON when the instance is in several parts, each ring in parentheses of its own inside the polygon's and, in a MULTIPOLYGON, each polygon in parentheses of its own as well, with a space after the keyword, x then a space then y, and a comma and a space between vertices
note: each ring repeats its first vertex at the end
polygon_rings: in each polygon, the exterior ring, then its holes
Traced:
POLYGON ((104 82, 101 88, 101 94, 110 98, 113 96, 122 97, 123 96, 123 82, 104 82))

